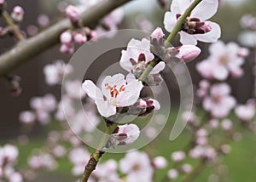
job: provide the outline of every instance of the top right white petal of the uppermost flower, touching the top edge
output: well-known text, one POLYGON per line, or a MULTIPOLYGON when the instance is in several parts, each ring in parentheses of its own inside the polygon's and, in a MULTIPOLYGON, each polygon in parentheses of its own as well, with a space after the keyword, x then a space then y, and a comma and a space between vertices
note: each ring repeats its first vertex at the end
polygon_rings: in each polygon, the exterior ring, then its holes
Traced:
POLYGON ((208 20, 216 14, 217 10, 218 0, 204 0, 193 9, 190 16, 200 20, 208 20))

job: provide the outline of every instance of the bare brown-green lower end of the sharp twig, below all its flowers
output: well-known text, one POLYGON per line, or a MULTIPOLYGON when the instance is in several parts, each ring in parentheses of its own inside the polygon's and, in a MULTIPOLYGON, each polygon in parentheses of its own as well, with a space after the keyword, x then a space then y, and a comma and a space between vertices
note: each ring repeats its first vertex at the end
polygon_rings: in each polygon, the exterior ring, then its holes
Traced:
POLYGON ((96 169, 97 162, 99 162, 100 158, 102 157, 102 154, 105 152, 103 148, 108 142, 109 135, 113 133, 113 130, 117 127, 117 125, 117 122, 108 124, 106 131, 102 136, 101 142, 96 148, 96 151, 94 151, 90 155, 90 160, 84 168, 84 173, 80 182, 87 182, 90 177, 90 173, 92 173, 96 169))

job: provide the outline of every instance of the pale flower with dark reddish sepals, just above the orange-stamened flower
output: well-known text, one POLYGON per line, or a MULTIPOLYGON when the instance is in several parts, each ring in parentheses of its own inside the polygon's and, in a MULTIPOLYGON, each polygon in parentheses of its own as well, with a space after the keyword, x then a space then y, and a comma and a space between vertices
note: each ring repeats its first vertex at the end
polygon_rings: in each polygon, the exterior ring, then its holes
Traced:
MULTIPOLYGON (((126 50, 122 51, 120 65, 129 72, 132 72, 136 77, 139 77, 144 69, 154 60, 154 54, 150 52, 150 41, 143 38, 142 41, 131 39, 126 50)), ((154 66, 150 74, 156 74, 165 68, 165 63, 160 62, 154 66)))

